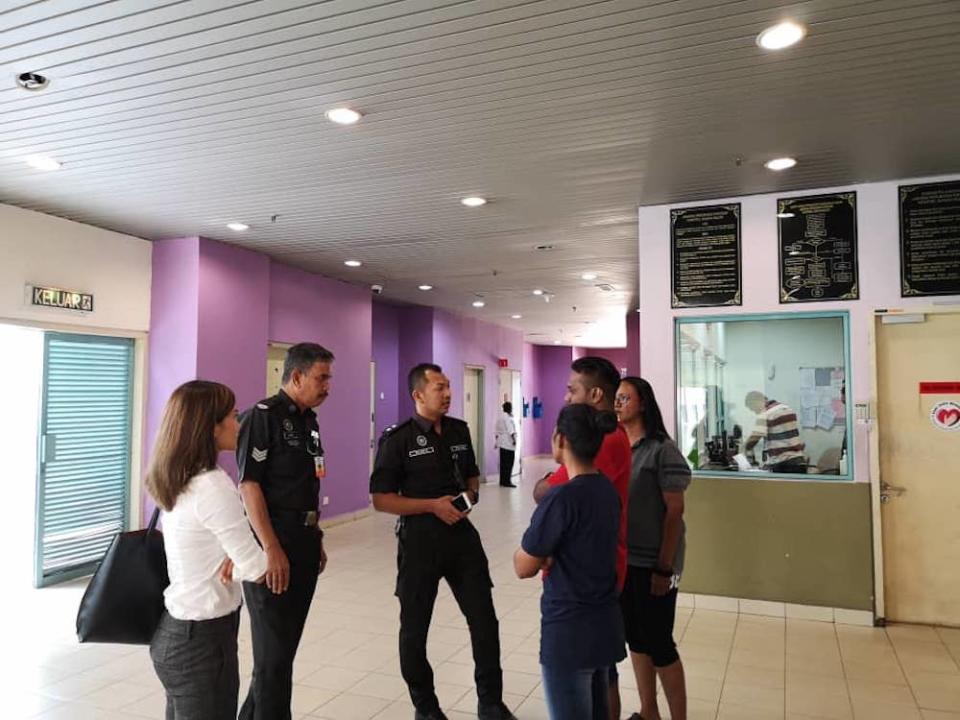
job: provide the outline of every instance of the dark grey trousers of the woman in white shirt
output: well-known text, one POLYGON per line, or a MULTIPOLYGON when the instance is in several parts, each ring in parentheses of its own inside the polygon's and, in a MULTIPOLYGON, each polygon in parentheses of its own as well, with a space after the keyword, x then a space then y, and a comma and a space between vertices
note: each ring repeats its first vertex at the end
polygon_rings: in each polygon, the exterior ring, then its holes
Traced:
POLYGON ((150 659, 167 693, 166 720, 236 720, 240 611, 213 620, 164 612, 150 659))

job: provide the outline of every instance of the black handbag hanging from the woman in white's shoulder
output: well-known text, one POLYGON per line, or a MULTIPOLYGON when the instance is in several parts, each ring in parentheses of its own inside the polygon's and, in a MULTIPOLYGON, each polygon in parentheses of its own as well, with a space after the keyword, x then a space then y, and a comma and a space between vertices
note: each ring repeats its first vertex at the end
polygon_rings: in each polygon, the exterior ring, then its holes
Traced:
POLYGON ((146 530, 118 534, 94 573, 77 611, 80 642, 149 645, 170 584, 160 508, 146 530))

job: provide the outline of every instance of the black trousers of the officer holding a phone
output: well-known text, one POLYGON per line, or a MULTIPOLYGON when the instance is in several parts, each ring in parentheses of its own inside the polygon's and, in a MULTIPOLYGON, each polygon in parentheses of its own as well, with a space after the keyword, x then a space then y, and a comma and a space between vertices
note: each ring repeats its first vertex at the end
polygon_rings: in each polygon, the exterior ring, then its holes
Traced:
POLYGON ((470 628, 479 704, 502 702, 500 626, 493 608, 487 556, 476 528, 469 520, 448 526, 433 515, 404 518, 397 566, 400 671, 414 707, 420 712, 440 708, 427 660, 427 632, 441 578, 450 586, 470 628))

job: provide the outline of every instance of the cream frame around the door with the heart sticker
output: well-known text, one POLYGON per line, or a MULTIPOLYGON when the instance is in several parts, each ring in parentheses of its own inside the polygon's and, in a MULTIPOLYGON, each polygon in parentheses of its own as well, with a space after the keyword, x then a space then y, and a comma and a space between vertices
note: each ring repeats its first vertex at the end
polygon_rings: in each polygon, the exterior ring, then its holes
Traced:
POLYGON ((956 315, 960 314, 960 303, 956 305, 917 305, 906 308, 874 310, 868 328, 870 347, 870 407, 867 420, 868 450, 870 455, 870 506, 873 525, 873 617, 878 625, 886 621, 886 596, 884 593, 883 558, 883 517, 880 504, 880 484, 883 482, 880 470, 880 418, 877 407, 880 402, 880 372, 877 362, 878 329, 884 317, 895 315, 956 315))

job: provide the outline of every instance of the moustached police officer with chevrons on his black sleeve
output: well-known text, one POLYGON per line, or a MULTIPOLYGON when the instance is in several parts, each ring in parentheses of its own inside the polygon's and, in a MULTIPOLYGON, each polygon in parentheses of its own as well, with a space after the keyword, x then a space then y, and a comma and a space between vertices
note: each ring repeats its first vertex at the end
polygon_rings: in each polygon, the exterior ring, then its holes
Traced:
POLYGON ((267 553, 263 584, 243 584, 253 636, 253 676, 240 720, 289 720, 293 659, 327 556, 319 518, 325 474, 313 408, 330 392, 333 353, 294 345, 283 389, 240 419, 240 493, 267 553))

